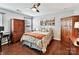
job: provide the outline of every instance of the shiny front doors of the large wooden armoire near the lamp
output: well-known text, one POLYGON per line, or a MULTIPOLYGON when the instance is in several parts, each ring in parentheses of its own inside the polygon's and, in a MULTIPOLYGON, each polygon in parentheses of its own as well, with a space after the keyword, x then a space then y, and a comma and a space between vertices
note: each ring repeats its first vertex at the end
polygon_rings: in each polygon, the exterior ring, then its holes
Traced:
POLYGON ((71 17, 61 19, 61 41, 69 46, 70 35, 72 35, 72 19, 71 17))

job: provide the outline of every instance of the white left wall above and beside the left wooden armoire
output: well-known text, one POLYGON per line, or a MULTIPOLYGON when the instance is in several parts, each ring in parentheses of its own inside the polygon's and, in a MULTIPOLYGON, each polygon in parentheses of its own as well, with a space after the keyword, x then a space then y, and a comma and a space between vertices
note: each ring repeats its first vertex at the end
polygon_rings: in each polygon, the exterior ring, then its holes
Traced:
POLYGON ((30 18, 30 19, 32 18, 31 16, 21 15, 19 13, 8 11, 1 8, 0 8, 0 12, 5 13, 3 14, 3 17, 2 17, 5 32, 10 32, 10 20, 12 20, 13 18, 23 19, 23 20, 24 20, 24 17, 30 18))

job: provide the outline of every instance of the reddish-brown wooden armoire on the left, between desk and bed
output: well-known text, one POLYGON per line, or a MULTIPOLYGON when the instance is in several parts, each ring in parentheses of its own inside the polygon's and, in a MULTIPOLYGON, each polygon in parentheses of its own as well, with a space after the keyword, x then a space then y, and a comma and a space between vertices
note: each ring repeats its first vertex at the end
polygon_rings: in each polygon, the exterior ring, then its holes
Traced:
POLYGON ((11 39, 12 42, 17 42, 21 39, 25 31, 25 22, 21 19, 12 19, 11 21, 11 39))

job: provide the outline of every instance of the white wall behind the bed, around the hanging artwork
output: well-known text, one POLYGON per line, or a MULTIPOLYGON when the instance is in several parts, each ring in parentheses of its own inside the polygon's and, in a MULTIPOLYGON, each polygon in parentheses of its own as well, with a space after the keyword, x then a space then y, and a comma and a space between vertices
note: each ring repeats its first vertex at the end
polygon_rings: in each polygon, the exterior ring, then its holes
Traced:
MULTIPOLYGON (((50 20, 52 17, 55 17, 55 26, 51 26, 54 29, 54 38, 56 40, 61 40, 61 18, 72 16, 72 15, 79 15, 79 8, 70 8, 61 10, 60 12, 48 15, 37 16, 33 18, 33 29, 40 28, 40 20, 50 20)), ((47 27, 48 28, 48 27, 47 27)))

